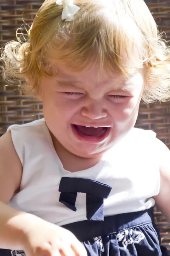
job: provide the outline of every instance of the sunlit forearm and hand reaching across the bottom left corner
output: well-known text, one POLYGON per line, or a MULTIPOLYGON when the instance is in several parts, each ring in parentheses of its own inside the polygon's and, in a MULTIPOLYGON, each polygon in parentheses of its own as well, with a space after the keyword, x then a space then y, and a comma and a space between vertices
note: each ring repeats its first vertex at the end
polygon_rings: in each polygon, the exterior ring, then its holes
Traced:
POLYGON ((0 202, 0 248, 24 250, 29 256, 87 256, 68 230, 0 202))

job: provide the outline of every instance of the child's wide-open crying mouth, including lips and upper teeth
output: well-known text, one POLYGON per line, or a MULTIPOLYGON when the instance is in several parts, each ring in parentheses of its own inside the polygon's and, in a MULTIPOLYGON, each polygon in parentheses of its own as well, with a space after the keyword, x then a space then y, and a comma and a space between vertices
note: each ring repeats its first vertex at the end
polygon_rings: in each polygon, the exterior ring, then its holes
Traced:
POLYGON ((72 124, 72 130, 79 140, 89 142, 100 142, 105 140, 110 131, 111 127, 93 127, 72 124))

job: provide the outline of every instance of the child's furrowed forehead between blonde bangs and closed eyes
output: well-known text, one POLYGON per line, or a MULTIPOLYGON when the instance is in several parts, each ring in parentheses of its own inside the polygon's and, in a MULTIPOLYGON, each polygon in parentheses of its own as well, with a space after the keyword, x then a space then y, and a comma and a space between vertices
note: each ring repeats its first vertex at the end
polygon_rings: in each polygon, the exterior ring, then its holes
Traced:
MULTIPOLYGON (((55 79, 58 85, 74 86, 84 89, 85 87, 111 87, 114 90, 133 90, 138 84, 143 84, 142 72, 136 72, 128 79, 123 78, 119 74, 111 73, 108 77, 105 72, 99 73, 99 67, 91 67, 86 71, 73 72, 62 64, 54 64, 53 68, 57 70, 55 79)), ((110 88, 109 88, 110 89, 110 88)))

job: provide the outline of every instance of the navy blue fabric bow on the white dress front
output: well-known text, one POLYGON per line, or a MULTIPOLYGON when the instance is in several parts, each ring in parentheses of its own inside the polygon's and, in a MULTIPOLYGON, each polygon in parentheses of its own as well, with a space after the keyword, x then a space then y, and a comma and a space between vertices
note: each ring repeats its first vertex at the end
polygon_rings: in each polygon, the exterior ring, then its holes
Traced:
POLYGON ((76 212, 77 192, 86 194, 87 219, 91 221, 103 221, 103 201, 108 198, 111 186, 96 180, 83 178, 62 177, 59 184, 59 202, 76 212))

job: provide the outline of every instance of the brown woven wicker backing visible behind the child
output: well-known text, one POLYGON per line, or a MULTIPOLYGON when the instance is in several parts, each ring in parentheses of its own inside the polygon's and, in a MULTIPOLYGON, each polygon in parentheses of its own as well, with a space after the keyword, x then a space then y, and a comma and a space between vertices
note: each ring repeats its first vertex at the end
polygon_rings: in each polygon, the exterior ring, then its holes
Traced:
MULTIPOLYGON (((8 41, 16 40, 16 30, 23 24, 23 20, 31 25, 42 2, 43 0, 0 0, 0 47, 8 41)), ((167 40, 170 40, 170 0, 145 2, 153 13, 159 30, 166 32, 167 40)), ((19 87, 20 84, 6 84, 0 77, 0 136, 6 132, 9 125, 23 124, 43 117, 41 102, 35 102, 22 95, 19 87)), ((141 103, 136 127, 152 129, 170 148, 170 102, 153 104, 149 108, 141 103)), ((169 224, 156 208, 155 217, 162 244, 170 248, 169 224)))

